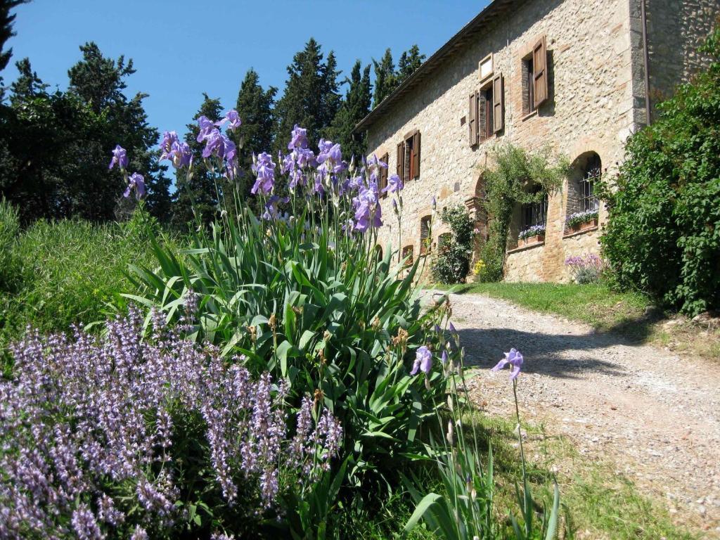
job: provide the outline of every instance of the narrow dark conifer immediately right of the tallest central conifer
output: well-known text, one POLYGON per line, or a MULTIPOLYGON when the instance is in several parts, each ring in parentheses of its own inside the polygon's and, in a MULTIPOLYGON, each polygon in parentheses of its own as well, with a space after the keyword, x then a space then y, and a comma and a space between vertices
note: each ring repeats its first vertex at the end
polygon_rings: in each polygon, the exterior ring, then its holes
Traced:
POLYGON ((352 132, 357 123, 370 112, 370 66, 361 69, 360 60, 356 60, 350 78, 346 78, 345 82, 348 91, 333 121, 332 138, 341 144, 343 156, 348 161, 351 156, 355 156, 358 161, 366 153, 365 134, 358 134, 354 138, 352 132))

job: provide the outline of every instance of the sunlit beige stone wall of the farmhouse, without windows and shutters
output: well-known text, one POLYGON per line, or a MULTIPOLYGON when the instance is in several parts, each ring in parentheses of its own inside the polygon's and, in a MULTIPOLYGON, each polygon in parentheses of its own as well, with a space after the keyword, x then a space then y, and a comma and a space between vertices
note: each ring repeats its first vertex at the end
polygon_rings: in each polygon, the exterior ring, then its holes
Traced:
MULTIPOLYGON (((482 171, 491 165, 490 150, 498 143, 513 143, 528 150, 547 145, 570 161, 592 151, 600 156, 603 171, 613 174, 623 158, 624 141, 639 126, 638 107, 644 107, 644 98, 637 95, 637 60, 642 60, 642 50, 638 56, 632 47, 637 41, 632 15, 638 1, 528 1, 503 17, 482 39, 454 53, 392 112, 371 125, 369 153, 381 156, 387 152, 391 172, 396 168, 396 145, 403 135, 415 129, 422 135, 420 176, 408 181, 402 192, 401 225, 393 215, 390 198, 384 199, 385 225, 379 243, 392 243, 397 249, 398 233, 402 233, 402 246, 412 244, 414 253, 419 253, 420 219, 431 215, 431 198, 436 197, 438 202, 436 215, 445 205, 471 206, 482 183, 482 171), (548 50, 549 100, 537 112, 523 114, 522 59, 543 35, 548 50), (502 73, 504 78, 505 128, 471 148, 468 96, 480 89, 478 62, 489 53, 494 55, 494 73, 502 73)), ((659 4, 677 3, 651 2, 656 20, 659 4)), ((706 24, 695 26, 704 30, 706 24)), ((657 59, 663 53, 659 45, 656 50, 657 59)), ((567 280, 567 256, 598 253, 599 230, 564 234, 567 188, 566 184, 562 192, 549 197, 544 244, 510 251, 505 279, 567 280)), ((571 204, 567 213, 574 207, 571 204)), ((601 207, 600 228, 604 219, 601 207)), ((445 226, 436 219, 433 240, 445 232, 445 226)))

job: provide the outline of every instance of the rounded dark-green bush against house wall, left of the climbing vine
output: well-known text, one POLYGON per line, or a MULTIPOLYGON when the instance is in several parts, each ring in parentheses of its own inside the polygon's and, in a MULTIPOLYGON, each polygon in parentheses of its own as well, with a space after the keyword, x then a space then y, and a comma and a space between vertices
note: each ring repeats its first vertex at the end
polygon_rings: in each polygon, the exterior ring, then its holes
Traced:
POLYGON ((470 271, 474 222, 460 204, 444 207, 440 219, 451 233, 433 258, 433 279, 444 284, 464 282, 470 271))

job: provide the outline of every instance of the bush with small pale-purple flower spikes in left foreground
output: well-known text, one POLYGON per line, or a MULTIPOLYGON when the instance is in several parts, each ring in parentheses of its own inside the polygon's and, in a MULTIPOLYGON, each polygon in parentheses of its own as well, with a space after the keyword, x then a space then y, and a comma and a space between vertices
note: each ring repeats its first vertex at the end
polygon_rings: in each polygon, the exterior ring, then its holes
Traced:
POLYGON ((158 312, 145 338, 133 308, 102 339, 30 331, 12 354, 14 378, 0 382, 1 538, 241 533, 338 452, 342 428, 317 400, 288 422, 286 382, 253 379, 158 312))

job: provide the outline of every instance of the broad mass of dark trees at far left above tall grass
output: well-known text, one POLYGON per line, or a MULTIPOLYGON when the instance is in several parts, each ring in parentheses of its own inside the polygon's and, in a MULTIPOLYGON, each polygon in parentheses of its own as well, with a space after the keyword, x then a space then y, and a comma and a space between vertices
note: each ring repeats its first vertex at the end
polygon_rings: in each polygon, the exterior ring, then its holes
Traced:
POLYGON ((158 132, 148 126, 144 94, 128 100, 125 66, 104 58, 93 43, 71 68, 70 88, 48 92, 30 60, 17 63, 10 106, 0 125, 0 192, 17 204, 25 222, 78 216, 105 221, 127 215, 132 199, 123 199, 125 181, 108 171, 111 150, 120 144, 148 186, 148 210, 166 217, 169 181, 158 166, 153 146, 158 132))

